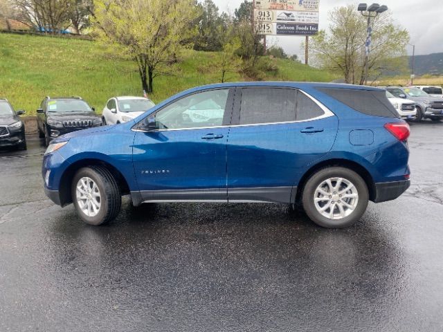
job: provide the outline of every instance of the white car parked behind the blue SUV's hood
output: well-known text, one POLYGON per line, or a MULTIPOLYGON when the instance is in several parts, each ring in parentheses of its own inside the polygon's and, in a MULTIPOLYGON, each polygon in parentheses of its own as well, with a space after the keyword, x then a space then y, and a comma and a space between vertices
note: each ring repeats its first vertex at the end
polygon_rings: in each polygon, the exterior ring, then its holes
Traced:
POLYGON ((114 97, 108 100, 102 112, 103 124, 128 122, 152 109, 152 100, 143 97, 114 97))

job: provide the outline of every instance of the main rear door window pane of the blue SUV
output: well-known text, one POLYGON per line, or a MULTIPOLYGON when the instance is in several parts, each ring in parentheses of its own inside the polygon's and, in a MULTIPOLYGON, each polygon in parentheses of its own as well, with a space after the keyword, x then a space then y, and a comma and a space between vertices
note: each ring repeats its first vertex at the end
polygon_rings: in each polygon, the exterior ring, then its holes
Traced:
POLYGON ((239 124, 295 121, 296 98, 292 89, 242 89, 239 124))

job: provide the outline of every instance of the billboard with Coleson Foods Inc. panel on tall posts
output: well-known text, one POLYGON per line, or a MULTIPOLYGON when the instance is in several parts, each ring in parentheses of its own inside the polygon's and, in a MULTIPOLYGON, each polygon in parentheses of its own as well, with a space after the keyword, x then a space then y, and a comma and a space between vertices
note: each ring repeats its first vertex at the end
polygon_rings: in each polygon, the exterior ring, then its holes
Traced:
POLYGON ((315 35, 320 0, 255 0, 259 35, 315 35))

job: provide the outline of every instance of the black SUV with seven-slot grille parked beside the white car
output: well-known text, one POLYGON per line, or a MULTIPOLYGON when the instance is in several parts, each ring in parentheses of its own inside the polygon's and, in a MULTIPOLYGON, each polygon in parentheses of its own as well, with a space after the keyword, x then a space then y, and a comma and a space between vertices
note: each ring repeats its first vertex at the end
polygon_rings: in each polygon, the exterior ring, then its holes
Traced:
POLYGON ((101 125, 102 119, 95 109, 80 97, 46 97, 37 109, 39 138, 44 138, 46 146, 64 133, 101 125))

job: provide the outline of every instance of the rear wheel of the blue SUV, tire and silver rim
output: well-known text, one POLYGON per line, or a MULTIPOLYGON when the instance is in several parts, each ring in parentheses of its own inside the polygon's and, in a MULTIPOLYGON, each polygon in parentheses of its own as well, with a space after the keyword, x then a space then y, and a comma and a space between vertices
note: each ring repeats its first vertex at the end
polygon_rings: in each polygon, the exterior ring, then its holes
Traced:
POLYGON ((361 218, 368 207, 368 201, 368 186, 363 178, 344 167, 320 169, 309 178, 302 192, 302 204, 307 216, 314 223, 325 228, 345 228, 352 225, 361 218), (338 184, 339 178, 341 178, 341 184, 338 184), (331 181, 332 188, 327 184, 328 179, 331 181), (340 189, 334 191, 336 185, 339 185, 340 189), (343 192, 347 187, 349 189, 343 192), (327 194, 330 192, 330 195, 322 194, 320 191, 327 194), (343 196, 339 196, 341 191, 341 195, 349 196, 346 198, 347 201, 343 201, 343 196), (328 204, 332 208, 328 208, 328 204), (320 212, 323 208, 326 209, 320 212))

